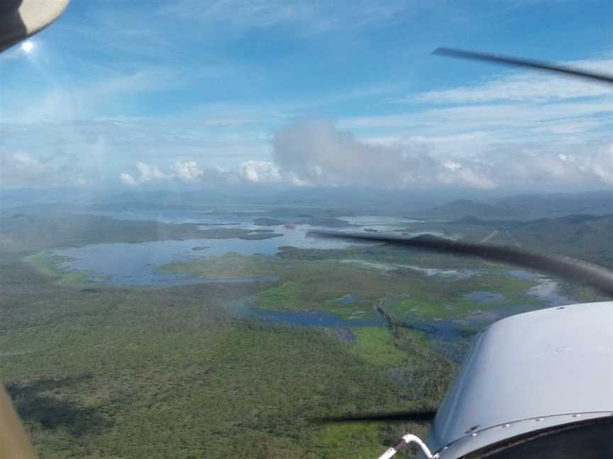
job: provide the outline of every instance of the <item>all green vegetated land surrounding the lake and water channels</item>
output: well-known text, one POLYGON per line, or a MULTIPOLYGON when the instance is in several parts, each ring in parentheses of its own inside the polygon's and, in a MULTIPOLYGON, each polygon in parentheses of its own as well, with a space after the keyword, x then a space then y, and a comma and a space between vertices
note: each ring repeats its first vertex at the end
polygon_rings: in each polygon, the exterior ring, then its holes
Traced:
MULTIPOLYGON (((340 211, 277 210, 284 220, 345 224, 340 211)), ((596 228, 578 229, 578 246, 601 247, 608 240, 605 220, 578 224, 596 228)), ((470 225, 448 229, 470 240, 490 234, 470 225)), ((405 431, 423 434, 425 427, 325 426, 308 419, 437 406, 455 364, 404 322, 546 306, 526 293, 538 279, 513 277, 474 259, 385 246, 285 247, 278 256, 211 257, 205 249, 195 261, 159 270, 207 280, 277 280, 172 288, 89 283, 87 273, 58 269, 66 259, 50 254, 58 246, 249 234, 91 215, 18 215, 1 222, 2 377, 43 458, 370 458, 405 431), (415 267, 469 270, 470 276, 427 276, 415 267), (475 291, 504 297, 477 302, 465 296, 475 291), (260 323, 236 312, 237 302, 278 312, 332 312, 348 326, 260 323), (387 328, 351 325, 375 318, 375 305, 393 318, 387 328)), ((546 248, 536 236, 518 238, 546 248)), ((565 292, 578 300, 604 299, 576 285, 565 285, 565 292)))

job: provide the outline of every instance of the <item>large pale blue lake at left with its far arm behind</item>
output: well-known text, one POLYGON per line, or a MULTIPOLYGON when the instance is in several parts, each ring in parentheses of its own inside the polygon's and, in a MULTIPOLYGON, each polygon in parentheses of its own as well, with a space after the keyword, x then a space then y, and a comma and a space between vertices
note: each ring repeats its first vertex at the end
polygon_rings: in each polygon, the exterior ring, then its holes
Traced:
MULTIPOLYGON (((196 215, 194 212, 99 212, 99 214, 124 220, 155 220, 160 222, 198 222, 203 227, 241 227, 261 229, 253 225, 253 216, 245 215, 196 215), (208 226, 207 226, 208 225, 208 226)), ((266 229, 266 228, 265 228, 266 229)), ((282 236, 270 239, 189 239, 186 241, 154 241, 138 244, 114 243, 92 244, 89 246, 53 251, 54 255, 68 257, 61 263, 66 271, 91 273, 94 281, 137 285, 181 285, 202 282, 188 274, 159 273, 158 266, 167 263, 205 259, 206 256, 221 256, 228 253, 242 255, 274 255, 280 246, 294 246, 301 249, 344 249, 364 245, 342 239, 306 237, 313 229, 326 229, 311 225, 295 225, 282 228, 282 236), (194 251, 194 247, 197 250, 194 251)), ((230 282, 230 280, 220 280, 230 282)), ((238 280, 237 280, 238 281, 238 280)), ((244 280, 245 282, 248 280, 244 280)))

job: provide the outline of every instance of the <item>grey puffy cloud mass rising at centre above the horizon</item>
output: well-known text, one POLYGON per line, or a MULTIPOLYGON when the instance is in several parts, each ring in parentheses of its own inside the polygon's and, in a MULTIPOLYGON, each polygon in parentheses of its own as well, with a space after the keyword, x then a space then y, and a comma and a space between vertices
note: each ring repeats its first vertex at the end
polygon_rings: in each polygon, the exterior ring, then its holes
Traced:
POLYGON ((328 123, 299 123, 273 142, 281 173, 316 186, 495 186, 471 164, 453 167, 436 159, 428 145, 372 145, 328 123))

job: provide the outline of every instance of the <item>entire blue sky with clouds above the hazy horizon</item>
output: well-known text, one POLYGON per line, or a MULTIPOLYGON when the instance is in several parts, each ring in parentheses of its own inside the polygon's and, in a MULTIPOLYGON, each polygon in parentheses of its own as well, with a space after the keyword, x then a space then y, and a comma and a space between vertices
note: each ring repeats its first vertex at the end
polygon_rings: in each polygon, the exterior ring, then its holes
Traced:
POLYGON ((72 0, 0 55, 0 188, 613 188, 611 1, 72 0))

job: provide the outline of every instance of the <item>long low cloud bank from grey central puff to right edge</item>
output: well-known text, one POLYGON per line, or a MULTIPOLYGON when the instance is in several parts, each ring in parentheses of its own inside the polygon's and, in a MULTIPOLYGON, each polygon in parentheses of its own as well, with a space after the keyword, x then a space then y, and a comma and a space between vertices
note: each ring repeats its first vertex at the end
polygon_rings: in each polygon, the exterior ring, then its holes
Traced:
MULTIPOLYGON (((313 186, 498 188, 501 186, 612 186, 609 139, 560 150, 547 145, 492 144, 459 156, 426 142, 377 145, 329 123, 297 123, 277 133, 274 164, 258 164, 275 177, 313 186)), ((258 171, 249 174, 259 179, 258 171)), ((245 174, 248 175, 248 174, 245 174)), ((258 180, 253 180, 258 181, 258 180)), ((259 180, 261 181, 261 180, 259 180)))

